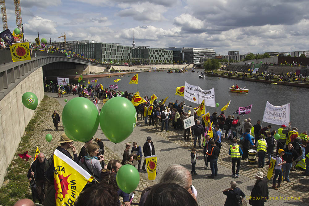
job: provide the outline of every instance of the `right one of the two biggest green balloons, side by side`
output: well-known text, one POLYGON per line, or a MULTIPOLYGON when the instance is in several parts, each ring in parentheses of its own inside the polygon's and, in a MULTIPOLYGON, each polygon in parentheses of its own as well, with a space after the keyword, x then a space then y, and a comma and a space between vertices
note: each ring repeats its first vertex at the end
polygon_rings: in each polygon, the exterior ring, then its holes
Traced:
POLYGON ((114 97, 102 107, 99 117, 102 132, 110 141, 122 142, 133 132, 136 117, 135 107, 128 99, 114 97))

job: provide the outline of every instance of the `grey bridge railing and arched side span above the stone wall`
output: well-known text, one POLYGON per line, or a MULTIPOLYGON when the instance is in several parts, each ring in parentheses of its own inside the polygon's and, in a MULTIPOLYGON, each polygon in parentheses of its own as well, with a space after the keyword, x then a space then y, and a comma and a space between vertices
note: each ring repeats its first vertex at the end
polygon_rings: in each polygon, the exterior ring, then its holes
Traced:
POLYGON ((0 50, 0 100, 2 100, 15 86, 36 69, 49 63, 59 61, 101 67, 106 66, 81 58, 68 58, 62 53, 46 53, 43 51, 33 52, 31 60, 12 62, 10 50, 0 50), (34 53, 36 54, 36 57, 34 57, 34 53))

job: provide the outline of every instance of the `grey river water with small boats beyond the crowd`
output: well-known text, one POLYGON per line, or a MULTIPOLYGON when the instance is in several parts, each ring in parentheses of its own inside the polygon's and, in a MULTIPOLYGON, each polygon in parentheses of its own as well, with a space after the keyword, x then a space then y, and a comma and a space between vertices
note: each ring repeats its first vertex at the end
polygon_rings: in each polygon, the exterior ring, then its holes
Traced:
MULTIPOLYGON (((200 79, 198 77, 201 69, 196 69, 198 72, 188 73, 171 73, 167 74, 167 71, 162 72, 142 72, 138 74, 138 86, 137 84, 129 84, 130 79, 134 74, 125 75, 124 77, 111 77, 111 78, 99 78, 98 83, 102 83, 104 88, 108 85, 115 84, 114 79, 121 79, 117 82, 118 90, 130 92, 136 92, 137 90, 144 97, 145 94, 149 97, 155 93, 159 100, 166 98, 167 104, 169 102, 175 102, 176 100, 182 101, 183 97, 175 95, 176 87, 184 86, 185 81, 192 85, 198 85, 203 90, 209 90, 214 88, 215 99, 219 103, 219 107, 208 107, 206 106, 206 111, 210 111, 210 115, 220 109, 231 100, 230 106, 225 111, 225 115, 232 115, 238 107, 245 107, 252 104, 252 111, 250 114, 245 114, 240 116, 240 120, 245 118, 251 118, 252 124, 256 124, 257 120, 263 119, 263 114, 265 110, 266 101, 273 104, 274 106, 280 106, 286 103, 290 103, 290 122, 291 127, 297 127, 298 132, 309 130, 307 128, 308 122, 307 117, 309 116, 309 109, 307 107, 309 103, 308 89, 302 87, 294 86, 284 86, 284 85, 273 85, 261 82, 250 82, 244 80, 235 80, 229 78, 210 77, 206 76, 205 79, 200 79), (240 94, 230 92, 228 87, 233 84, 238 84, 239 87, 246 86, 249 89, 247 94, 240 94)), ((87 82, 88 79, 85 79, 87 82)), ((186 105, 192 105, 197 107, 198 105, 192 103, 188 100, 184 100, 186 105)), ((166 104, 166 105, 167 105, 166 104)), ((219 115, 220 113, 218 113, 219 115)), ((235 117, 238 114, 234 114, 235 117)), ((264 122, 262 126, 267 126, 269 123, 264 122)), ((278 129, 279 125, 272 125, 272 129, 278 129)), ((308 131, 309 132, 309 131, 308 131)))

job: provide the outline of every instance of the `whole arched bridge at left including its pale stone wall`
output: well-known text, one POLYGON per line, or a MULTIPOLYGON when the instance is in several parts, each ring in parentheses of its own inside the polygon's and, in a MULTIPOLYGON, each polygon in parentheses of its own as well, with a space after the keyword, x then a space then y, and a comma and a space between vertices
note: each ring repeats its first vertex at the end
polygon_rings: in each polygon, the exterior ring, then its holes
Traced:
POLYGON ((33 52, 31 60, 12 62, 10 50, 0 50, 0 185, 34 114, 34 110, 23 106, 23 93, 33 92, 40 103, 44 97, 43 73, 47 76, 57 76, 60 72, 86 74, 102 72, 105 68, 103 64, 81 58, 41 51, 33 52))

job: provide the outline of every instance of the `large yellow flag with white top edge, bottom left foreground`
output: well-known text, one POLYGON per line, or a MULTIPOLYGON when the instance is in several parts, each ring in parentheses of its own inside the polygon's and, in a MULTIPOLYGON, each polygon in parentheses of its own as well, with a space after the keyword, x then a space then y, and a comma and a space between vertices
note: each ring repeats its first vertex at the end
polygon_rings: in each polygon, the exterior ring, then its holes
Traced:
POLYGON ((58 149, 54 151, 53 159, 56 205, 72 205, 93 177, 58 149))

